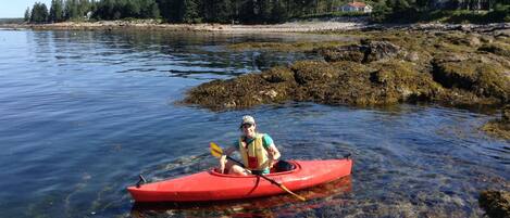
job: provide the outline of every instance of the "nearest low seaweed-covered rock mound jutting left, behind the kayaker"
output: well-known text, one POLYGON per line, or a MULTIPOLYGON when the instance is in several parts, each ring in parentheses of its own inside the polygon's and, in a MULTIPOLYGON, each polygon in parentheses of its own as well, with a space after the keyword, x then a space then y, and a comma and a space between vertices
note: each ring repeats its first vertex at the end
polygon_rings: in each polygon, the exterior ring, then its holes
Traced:
POLYGON ((192 89, 185 102, 213 110, 283 101, 365 106, 434 101, 443 91, 430 75, 418 73, 409 62, 363 65, 301 61, 288 68, 203 84, 192 89))

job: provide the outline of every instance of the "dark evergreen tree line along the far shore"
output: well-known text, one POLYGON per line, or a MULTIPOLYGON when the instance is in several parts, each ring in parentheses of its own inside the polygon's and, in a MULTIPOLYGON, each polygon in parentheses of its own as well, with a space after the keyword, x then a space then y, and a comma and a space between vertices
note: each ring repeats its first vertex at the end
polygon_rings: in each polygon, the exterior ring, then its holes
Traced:
MULTIPOLYGON (((338 10, 351 0, 52 0, 25 11, 30 23, 162 18, 169 23, 273 24, 338 10)), ((440 10, 510 12, 510 0, 368 0, 373 21, 409 20, 440 10)))

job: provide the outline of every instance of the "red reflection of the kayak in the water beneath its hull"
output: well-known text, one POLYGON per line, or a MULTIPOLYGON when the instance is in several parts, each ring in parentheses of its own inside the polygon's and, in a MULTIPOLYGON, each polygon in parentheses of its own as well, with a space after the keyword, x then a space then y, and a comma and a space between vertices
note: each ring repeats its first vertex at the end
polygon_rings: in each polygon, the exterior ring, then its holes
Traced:
POLYGON ((254 200, 206 202, 206 203, 135 203, 133 217, 162 215, 184 217, 294 217, 301 213, 327 206, 341 207, 351 192, 351 177, 344 177, 297 193, 307 198, 301 202, 291 195, 276 195, 254 200))

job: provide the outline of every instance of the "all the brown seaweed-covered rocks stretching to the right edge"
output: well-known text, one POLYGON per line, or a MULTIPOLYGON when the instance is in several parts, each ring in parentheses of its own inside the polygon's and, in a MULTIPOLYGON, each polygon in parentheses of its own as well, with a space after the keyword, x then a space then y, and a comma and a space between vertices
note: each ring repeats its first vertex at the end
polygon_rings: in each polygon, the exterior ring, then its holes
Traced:
MULTIPOLYGON (((495 46, 510 46, 506 38, 459 31, 352 34, 364 38, 358 43, 326 42, 328 47, 310 50, 322 54, 324 61, 300 61, 288 67, 206 82, 191 89, 184 102, 212 110, 285 101, 356 106, 401 102, 462 107, 510 104, 510 60, 506 47, 495 46)), ((298 43, 297 48, 303 47, 298 43)), ((510 112, 502 113, 501 119, 482 129, 510 138, 510 112)))

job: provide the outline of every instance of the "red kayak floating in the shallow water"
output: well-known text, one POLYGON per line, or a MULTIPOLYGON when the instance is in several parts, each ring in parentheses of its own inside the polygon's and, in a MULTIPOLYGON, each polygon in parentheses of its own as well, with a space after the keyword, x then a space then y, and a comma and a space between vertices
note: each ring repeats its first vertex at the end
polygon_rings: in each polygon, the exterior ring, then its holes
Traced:
MULTIPOLYGON (((349 176, 352 159, 289 161, 294 169, 272 172, 268 178, 291 191, 349 176)), ((176 179, 128 187, 136 202, 203 202, 260 197, 285 193, 259 176, 234 176, 214 169, 176 179)))

